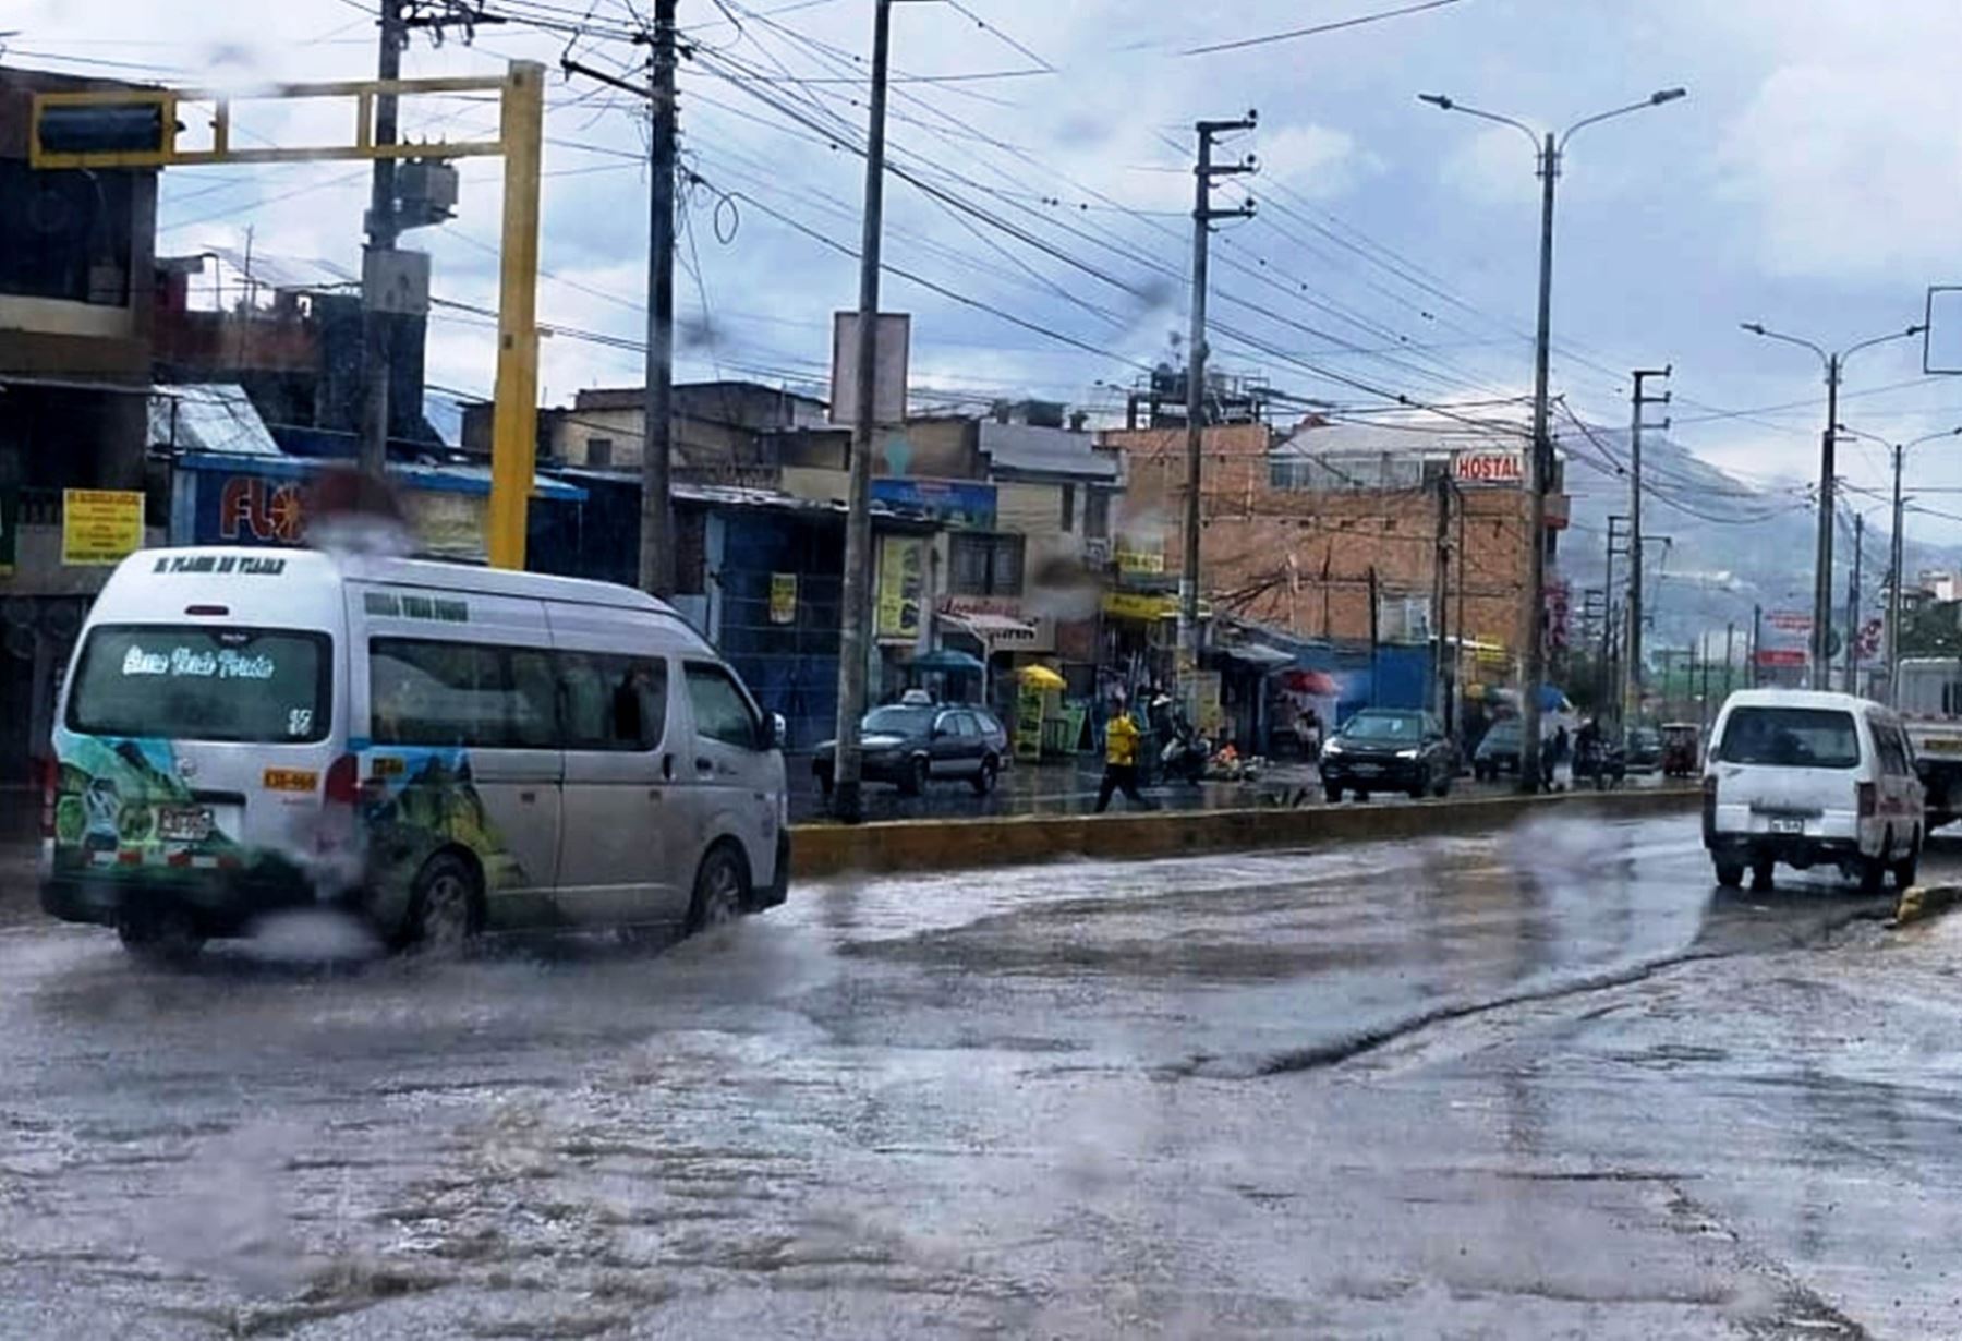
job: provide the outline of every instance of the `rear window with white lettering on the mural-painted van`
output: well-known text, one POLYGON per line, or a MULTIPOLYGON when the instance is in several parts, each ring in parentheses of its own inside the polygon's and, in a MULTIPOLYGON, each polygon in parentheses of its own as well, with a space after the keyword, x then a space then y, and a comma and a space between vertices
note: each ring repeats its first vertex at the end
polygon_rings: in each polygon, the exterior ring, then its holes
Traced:
POLYGON ((161 740, 326 740, 326 634, 283 628, 98 624, 69 693, 69 728, 161 740))

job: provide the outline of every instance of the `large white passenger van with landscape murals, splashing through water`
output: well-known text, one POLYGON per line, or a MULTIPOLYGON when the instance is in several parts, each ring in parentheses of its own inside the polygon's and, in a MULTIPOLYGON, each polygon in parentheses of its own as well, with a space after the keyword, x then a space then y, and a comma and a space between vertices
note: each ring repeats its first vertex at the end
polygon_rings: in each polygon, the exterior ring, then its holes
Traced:
POLYGON ((396 944, 783 901, 781 719, 653 597, 312 550, 143 550, 63 687, 41 905, 192 948, 334 903, 396 944))

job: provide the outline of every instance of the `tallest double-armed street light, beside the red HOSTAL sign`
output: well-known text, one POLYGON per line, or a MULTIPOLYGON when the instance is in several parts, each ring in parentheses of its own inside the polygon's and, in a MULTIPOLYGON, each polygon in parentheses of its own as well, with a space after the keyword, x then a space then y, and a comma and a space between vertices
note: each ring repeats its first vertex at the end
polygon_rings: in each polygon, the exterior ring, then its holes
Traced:
POLYGON ((1687 96, 1683 88, 1658 88, 1640 102, 1583 116, 1560 135, 1546 132, 1542 139, 1538 132, 1511 116, 1468 108, 1440 92, 1417 94, 1419 102, 1428 102, 1440 112, 1464 112, 1481 122, 1511 126, 1532 143, 1540 175, 1540 326, 1532 353, 1532 452, 1526 467, 1526 605, 1521 613, 1524 691, 1521 693, 1519 785, 1523 791, 1538 791, 1540 787, 1540 681, 1546 675, 1546 636, 1542 628, 1546 622, 1546 479, 1552 475, 1554 456, 1546 436, 1546 363, 1552 346, 1554 316, 1554 179, 1560 177, 1560 159, 1568 151, 1568 141, 1574 139, 1574 132, 1581 126, 1593 126, 1595 122, 1640 112, 1642 108, 1660 108, 1664 102, 1676 102, 1683 96, 1687 96))

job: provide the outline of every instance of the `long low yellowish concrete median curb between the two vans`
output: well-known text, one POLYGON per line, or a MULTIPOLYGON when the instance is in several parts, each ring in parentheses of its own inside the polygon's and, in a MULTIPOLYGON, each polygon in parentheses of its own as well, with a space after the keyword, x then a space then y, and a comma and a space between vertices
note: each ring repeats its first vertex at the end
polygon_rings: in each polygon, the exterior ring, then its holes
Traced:
POLYGON ((1691 787, 1654 787, 1303 809, 1126 811, 1120 815, 795 825, 791 829, 791 874, 795 880, 824 880, 848 872, 1026 866, 1063 856, 1142 860, 1199 852, 1307 848, 1326 842, 1383 842, 1485 832, 1505 829, 1526 815, 1634 819, 1693 811, 1697 805, 1699 793, 1691 787))

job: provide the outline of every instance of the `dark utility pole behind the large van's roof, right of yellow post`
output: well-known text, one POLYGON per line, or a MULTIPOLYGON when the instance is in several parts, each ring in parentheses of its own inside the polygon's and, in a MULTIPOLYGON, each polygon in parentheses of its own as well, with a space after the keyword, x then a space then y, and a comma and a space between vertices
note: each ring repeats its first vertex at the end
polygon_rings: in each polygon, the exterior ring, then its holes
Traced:
POLYGON ((675 593, 675 0, 653 0, 647 67, 647 389, 640 438, 640 587, 675 593))

